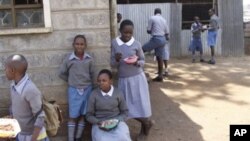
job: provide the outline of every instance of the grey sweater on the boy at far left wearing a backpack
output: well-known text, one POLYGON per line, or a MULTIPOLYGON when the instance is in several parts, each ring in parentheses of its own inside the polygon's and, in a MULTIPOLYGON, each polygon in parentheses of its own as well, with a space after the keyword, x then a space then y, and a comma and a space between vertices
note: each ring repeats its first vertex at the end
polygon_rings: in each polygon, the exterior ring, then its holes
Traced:
POLYGON ((18 84, 11 84, 11 112, 21 127, 21 134, 31 135, 34 127, 44 126, 45 114, 41 110, 42 95, 26 74, 18 84))

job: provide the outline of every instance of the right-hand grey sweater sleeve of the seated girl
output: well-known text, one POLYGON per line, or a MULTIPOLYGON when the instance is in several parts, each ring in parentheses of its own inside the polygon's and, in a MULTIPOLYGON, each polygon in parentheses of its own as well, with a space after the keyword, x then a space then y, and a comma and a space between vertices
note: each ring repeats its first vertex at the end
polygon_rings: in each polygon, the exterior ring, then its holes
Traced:
POLYGON ((119 93, 119 109, 120 109, 120 114, 118 115, 117 119, 124 121, 126 120, 128 116, 128 107, 125 101, 124 96, 119 93))

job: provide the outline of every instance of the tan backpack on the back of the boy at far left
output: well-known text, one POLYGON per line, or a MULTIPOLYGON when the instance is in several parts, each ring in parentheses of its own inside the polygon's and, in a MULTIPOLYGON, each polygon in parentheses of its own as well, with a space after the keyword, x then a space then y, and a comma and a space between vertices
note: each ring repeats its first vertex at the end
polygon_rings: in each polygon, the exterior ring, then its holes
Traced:
POLYGON ((43 97, 42 109, 45 113, 45 128, 48 136, 55 136, 63 122, 62 110, 56 101, 48 101, 43 97))

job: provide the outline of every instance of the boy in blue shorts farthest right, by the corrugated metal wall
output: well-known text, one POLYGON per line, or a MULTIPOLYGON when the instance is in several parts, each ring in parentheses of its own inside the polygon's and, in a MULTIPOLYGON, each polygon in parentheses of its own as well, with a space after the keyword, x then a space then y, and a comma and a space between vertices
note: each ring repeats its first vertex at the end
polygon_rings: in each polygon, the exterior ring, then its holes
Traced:
POLYGON ((216 38, 218 34, 219 29, 219 18, 216 16, 214 9, 210 9, 208 11, 208 14, 210 16, 209 25, 208 25, 208 46, 210 46, 211 49, 211 60, 208 61, 209 64, 215 64, 214 59, 214 48, 216 45, 216 38))

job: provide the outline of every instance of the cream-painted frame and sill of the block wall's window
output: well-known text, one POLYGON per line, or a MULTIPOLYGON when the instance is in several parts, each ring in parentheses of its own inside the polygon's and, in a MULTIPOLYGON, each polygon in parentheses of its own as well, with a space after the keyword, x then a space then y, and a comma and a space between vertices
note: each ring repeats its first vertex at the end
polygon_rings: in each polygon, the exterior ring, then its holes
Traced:
MULTIPOLYGON (((44 15, 44 27, 35 28, 2 28, 0 29, 0 35, 16 35, 16 34, 34 34, 34 33, 49 33, 53 31, 51 22, 51 9, 49 0, 43 0, 43 15, 44 15)), ((11 8, 11 7, 10 7, 11 8)), ((10 9, 8 8, 8 9, 10 9)), ((27 8, 28 9, 28 8, 27 8)))

